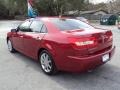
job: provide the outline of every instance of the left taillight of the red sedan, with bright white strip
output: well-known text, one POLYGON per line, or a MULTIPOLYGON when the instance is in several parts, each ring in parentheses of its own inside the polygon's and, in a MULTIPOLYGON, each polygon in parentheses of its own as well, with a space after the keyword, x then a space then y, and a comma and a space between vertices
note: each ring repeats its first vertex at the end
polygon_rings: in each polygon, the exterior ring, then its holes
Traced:
POLYGON ((97 45, 95 37, 69 38, 69 41, 75 49, 93 48, 97 45))

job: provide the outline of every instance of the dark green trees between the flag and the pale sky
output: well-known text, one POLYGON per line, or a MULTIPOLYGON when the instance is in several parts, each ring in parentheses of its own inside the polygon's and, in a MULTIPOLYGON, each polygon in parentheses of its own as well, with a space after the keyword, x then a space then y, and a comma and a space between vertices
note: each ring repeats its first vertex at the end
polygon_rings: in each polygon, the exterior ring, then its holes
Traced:
POLYGON ((40 13, 59 15, 64 11, 82 10, 86 0, 37 0, 35 7, 40 13))

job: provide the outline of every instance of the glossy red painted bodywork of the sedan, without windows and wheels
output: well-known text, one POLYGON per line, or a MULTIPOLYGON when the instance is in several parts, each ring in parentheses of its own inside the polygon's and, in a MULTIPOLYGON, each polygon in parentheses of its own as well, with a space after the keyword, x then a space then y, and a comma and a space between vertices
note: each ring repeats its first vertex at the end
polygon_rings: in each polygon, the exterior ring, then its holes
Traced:
POLYGON ((109 30, 93 27, 60 31, 50 17, 30 20, 41 20, 48 32, 9 32, 7 39, 12 41, 16 50, 35 60, 38 60, 40 51, 46 49, 58 70, 91 70, 106 63, 102 61, 104 55, 109 54, 111 59, 114 54, 115 46, 109 30))

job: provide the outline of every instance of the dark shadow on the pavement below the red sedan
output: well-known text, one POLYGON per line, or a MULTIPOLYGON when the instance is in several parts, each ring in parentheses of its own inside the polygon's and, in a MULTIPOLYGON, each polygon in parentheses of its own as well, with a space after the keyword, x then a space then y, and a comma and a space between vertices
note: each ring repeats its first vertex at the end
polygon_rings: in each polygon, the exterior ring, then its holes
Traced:
MULTIPOLYGON (((13 55, 14 57, 20 58, 26 64, 26 68, 33 68, 37 72, 40 72, 40 75, 45 75, 41 74, 43 72, 38 62, 21 53, 13 55)), ((45 76, 65 88, 65 90, 113 90, 115 87, 120 88, 120 69, 109 63, 92 72, 59 72, 54 76, 45 76)))

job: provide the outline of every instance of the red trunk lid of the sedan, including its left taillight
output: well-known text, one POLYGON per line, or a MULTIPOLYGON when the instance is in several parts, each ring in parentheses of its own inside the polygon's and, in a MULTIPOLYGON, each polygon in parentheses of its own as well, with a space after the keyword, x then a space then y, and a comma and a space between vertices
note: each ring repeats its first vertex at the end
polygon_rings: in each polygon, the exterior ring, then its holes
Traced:
POLYGON ((72 38, 75 38, 72 39, 71 42, 75 42, 78 47, 80 46, 81 48, 77 47, 79 50, 84 49, 86 52, 84 54, 86 55, 104 52, 112 47, 112 32, 109 30, 86 28, 84 30, 68 30, 62 32, 69 34, 72 38))

